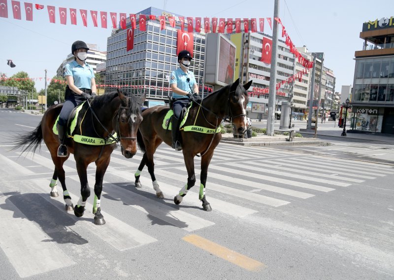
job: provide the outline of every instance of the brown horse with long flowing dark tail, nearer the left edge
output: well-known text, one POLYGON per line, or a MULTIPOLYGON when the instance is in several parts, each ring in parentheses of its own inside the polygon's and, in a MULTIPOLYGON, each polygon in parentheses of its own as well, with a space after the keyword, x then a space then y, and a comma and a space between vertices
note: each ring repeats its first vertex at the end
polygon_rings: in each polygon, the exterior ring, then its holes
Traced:
POLYGON ((62 109, 63 104, 50 107, 42 117, 37 128, 26 135, 17 137, 16 148, 23 148, 23 152, 33 150, 33 153, 41 141, 44 140, 52 161, 55 164, 55 171, 50 183, 52 197, 58 197, 56 183, 59 178, 63 188, 63 198, 66 202, 66 210, 74 210, 77 217, 81 217, 85 211, 86 200, 90 196, 90 188, 87 178, 87 167, 90 163, 96 163, 96 183, 95 200, 93 213, 94 222, 97 225, 105 224, 101 214, 100 196, 102 191, 102 180, 108 167, 112 151, 117 147, 117 143, 122 145, 122 154, 126 158, 131 158, 137 151, 136 133, 142 120, 141 105, 145 100, 145 94, 140 98, 127 97, 122 91, 104 94, 96 97, 93 101, 86 101, 79 113, 76 128, 72 133, 72 138, 67 138, 65 144, 68 151, 74 154, 78 176, 81 182, 81 197, 75 208, 72 205, 71 197, 66 188, 64 162, 67 157, 58 157, 59 138, 53 132, 53 126, 62 109), (116 133, 116 134, 115 134, 116 133), (80 135, 84 138, 79 137, 80 135), (85 139, 76 142, 77 138, 85 139), (87 144, 87 143, 90 144, 87 144), (97 143, 96 143, 97 142, 97 143), (92 144, 100 145, 92 145, 92 144), (26 146, 27 145, 27 146, 26 146))

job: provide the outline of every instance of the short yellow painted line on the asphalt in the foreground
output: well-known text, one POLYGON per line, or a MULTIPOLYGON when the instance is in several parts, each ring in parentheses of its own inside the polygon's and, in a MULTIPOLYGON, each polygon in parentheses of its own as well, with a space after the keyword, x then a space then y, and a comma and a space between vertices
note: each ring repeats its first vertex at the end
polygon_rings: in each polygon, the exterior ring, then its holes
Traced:
POLYGON ((192 234, 182 238, 184 241, 189 242, 198 248, 210 252, 211 254, 218 256, 224 260, 229 261, 237 266, 240 266, 249 271, 258 271, 265 267, 265 264, 254 260, 250 257, 244 256, 240 253, 234 252, 224 246, 216 244, 198 235, 192 234))

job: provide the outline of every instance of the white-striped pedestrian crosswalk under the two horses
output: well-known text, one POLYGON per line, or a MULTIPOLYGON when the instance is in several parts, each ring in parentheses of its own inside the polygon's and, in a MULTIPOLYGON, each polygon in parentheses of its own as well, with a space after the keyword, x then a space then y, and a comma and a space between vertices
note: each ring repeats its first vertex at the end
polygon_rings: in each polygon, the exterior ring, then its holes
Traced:
MULTIPOLYGON (((53 239, 53 232, 72 231, 79 243, 83 243, 81 237, 86 236, 84 233, 89 232, 114 250, 131 250, 155 243, 159 238, 147 229, 149 221, 144 225, 141 217, 190 233, 214 227, 218 218, 216 213, 229 219, 242 219, 266 208, 280 209, 305 200, 313 203, 316 197, 341 188, 357 187, 365 181, 391 175, 394 170, 393 167, 374 163, 220 144, 208 169, 206 196, 213 212, 207 213, 201 210, 201 202, 198 201, 200 158, 195 159, 196 186, 180 206, 175 206, 172 199, 187 181, 181 152, 161 145, 155 154, 155 174, 166 198, 159 200, 146 168, 140 177, 143 188, 134 188, 134 172, 142 155, 138 153, 132 159, 126 159, 119 150, 115 150, 104 176, 101 199, 107 223, 96 226, 92 222, 93 195, 88 200, 83 218, 75 217, 72 212, 66 213, 62 196, 49 197, 53 163, 45 147, 36 154, 21 154, 8 149, 0 146, 0 162, 4 167, 0 170, 0 247, 21 278, 74 264, 59 245, 42 242, 53 239), (326 165, 321 168, 323 159, 326 165), (28 206, 22 207, 18 203, 32 195, 43 204, 42 208, 57 209, 67 225, 47 228, 41 220, 34 219, 27 210, 28 206), (135 225, 130 222, 132 219, 119 216, 118 211, 106 207, 106 201, 108 205, 111 203, 121 209, 124 215, 140 217, 139 222, 135 225), (29 249, 26 249, 26 244, 31 245, 29 249), (60 259, 61 262, 57 261, 60 259)), ((67 188, 75 204, 80 195, 79 177, 72 157, 66 161, 65 171, 67 188)), ((94 164, 88 167, 88 181, 92 188, 95 183, 94 164)), ((58 188, 60 191, 61 187, 58 188)), ((45 211, 42 211, 45 216, 45 211)), ((48 219, 53 218, 44 220, 48 219)))

